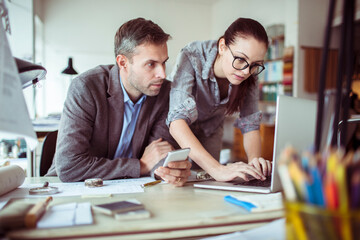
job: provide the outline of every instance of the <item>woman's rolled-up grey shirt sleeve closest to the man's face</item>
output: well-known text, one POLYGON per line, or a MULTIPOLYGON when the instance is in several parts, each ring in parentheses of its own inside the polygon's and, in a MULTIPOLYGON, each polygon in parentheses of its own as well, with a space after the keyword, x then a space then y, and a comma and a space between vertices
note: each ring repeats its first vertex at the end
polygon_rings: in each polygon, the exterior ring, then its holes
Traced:
POLYGON ((166 119, 167 126, 170 126, 171 122, 178 119, 184 119, 189 125, 197 120, 198 111, 195 98, 192 95, 195 79, 194 68, 184 51, 182 51, 169 76, 172 85, 169 113, 166 119))

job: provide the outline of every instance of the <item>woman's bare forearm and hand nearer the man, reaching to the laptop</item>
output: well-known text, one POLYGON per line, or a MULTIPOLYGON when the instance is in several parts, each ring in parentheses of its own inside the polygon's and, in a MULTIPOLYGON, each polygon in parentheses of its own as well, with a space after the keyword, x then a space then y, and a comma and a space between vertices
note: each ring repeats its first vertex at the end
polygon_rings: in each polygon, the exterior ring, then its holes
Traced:
POLYGON ((170 134, 180 147, 189 147, 191 149, 189 157, 217 181, 231 181, 237 177, 248 180, 247 175, 265 179, 260 171, 249 164, 238 162, 226 166, 221 165, 205 150, 185 120, 171 122, 170 134))

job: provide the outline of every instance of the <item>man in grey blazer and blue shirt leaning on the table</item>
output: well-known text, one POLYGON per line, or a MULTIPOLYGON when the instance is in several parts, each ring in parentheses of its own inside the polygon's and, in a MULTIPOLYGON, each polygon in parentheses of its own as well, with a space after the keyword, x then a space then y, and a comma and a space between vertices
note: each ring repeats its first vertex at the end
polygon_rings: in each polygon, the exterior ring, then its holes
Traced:
POLYGON ((177 146, 165 125, 169 38, 143 18, 118 29, 116 65, 98 66, 71 83, 47 176, 58 174, 69 182, 137 178, 155 172, 171 184, 184 185, 190 175, 187 160, 157 168, 177 146))

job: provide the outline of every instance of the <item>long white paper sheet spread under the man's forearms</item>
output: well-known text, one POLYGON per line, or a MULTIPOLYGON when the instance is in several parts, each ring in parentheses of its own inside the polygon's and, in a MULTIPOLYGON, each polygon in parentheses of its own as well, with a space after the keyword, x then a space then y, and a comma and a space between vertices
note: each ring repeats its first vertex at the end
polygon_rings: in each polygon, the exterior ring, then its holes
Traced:
MULTIPOLYGON (((144 192, 141 184, 154 181, 152 177, 143 178, 130 178, 130 179, 119 179, 119 180, 105 180, 103 181, 104 186, 89 188, 85 187, 84 182, 73 182, 73 183, 50 183, 49 186, 57 187, 59 193, 52 194, 53 197, 64 197, 64 196, 104 196, 110 194, 121 194, 121 193, 136 193, 144 192)), ((42 183, 38 184, 23 184, 14 191, 5 194, 0 197, 0 202, 8 200, 10 198, 37 198, 44 197, 44 195, 30 195, 29 189, 42 187, 42 183)))

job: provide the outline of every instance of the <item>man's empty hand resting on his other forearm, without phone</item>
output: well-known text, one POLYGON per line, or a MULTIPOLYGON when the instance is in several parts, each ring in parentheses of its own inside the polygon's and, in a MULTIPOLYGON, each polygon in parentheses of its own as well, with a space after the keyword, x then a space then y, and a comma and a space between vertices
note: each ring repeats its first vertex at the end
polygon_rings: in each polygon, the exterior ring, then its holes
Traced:
POLYGON ((140 158, 140 174, 146 175, 151 169, 170 151, 174 150, 173 146, 167 141, 162 141, 161 138, 151 142, 140 158))

